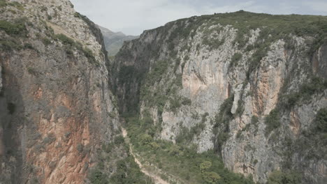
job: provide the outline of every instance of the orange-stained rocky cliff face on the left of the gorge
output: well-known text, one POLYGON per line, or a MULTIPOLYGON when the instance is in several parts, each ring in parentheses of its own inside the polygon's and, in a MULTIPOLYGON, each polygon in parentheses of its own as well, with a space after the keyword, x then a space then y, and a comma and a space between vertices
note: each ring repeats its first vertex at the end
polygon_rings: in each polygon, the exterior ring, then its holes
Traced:
POLYGON ((0 9, 0 183, 88 183, 119 130, 100 30, 68 0, 0 9))

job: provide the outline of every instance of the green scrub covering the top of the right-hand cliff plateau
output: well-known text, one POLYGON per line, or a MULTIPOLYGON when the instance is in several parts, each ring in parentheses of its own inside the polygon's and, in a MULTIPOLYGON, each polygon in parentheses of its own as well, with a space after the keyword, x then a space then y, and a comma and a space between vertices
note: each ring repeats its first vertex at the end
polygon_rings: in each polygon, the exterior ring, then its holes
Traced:
MULTIPOLYGON (((259 66, 270 45, 276 40, 282 39, 289 45, 292 35, 312 36, 314 42, 310 43, 311 48, 307 53, 309 56, 327 41, 327 17, 314 15, 269 15, 238 11, 177 20, 159 29, 162 29, 163 36, 169 35, 168 30, 173 29, 168 39, 168 44, 172 45, 170 50, 174 50, 174 45, 183 43, 183 39, 193 38, 198 30, 203 32, 203 45, 208 45, 209 49, 216 49, 224 43, 224 40, 217 39, 217 34, 221 32, 221 26, 227 25, 238 30, 233 41, 238 49, 244 49, 245 52, 254 50, 249 61, 247 77, 259 66), (247 45, 250 31, 256 29, 260 29, 259 38, 253 45, 247 45)), ((187 42, 182 48, 190 52, 187 42)), ((233 65, 237 64, 238 57, 233 59, 233 65)))

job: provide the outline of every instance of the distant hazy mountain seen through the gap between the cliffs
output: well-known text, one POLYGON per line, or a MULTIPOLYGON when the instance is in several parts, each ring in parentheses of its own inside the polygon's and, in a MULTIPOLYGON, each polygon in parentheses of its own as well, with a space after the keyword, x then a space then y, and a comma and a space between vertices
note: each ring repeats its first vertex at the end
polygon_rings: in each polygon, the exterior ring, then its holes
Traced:
POLYGON ((115 56, 115 54, 117 54, 119 49, 122 47, 124 41, 138 38, 138 36, 126 36, 122 32, 115 33, 102 26, 99 26, 99 29, 103 34, 103 40, 105 42, 106 49, 108 51, 108 56, 115 56))

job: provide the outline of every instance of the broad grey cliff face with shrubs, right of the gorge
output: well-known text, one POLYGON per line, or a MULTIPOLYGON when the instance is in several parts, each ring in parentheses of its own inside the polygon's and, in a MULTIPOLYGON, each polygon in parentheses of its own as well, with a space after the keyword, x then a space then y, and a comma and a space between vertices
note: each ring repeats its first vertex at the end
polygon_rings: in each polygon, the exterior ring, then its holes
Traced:
POLYGON ((254 181, 292 170, 326 183, 326 25, 240 11, 145 31, 114 61, 119 109, 254 181))

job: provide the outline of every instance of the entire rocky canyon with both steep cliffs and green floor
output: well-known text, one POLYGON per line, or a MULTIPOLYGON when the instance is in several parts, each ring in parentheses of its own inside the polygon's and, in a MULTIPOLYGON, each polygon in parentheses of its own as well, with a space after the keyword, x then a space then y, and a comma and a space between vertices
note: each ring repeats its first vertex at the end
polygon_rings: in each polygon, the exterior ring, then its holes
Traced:
POLYGON ((68 0, 0 10, 0 183, 327 182, 326 16, 194 16, 109 59, 68 0))

